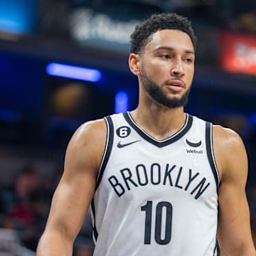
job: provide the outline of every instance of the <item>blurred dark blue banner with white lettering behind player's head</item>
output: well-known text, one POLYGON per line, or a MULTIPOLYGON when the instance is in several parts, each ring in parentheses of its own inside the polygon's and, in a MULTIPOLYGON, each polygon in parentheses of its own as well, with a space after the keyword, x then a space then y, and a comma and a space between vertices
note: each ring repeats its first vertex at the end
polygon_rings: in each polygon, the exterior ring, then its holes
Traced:
POLYGON ((93 6, 88 1, 70 9, 68 30, 73 41, 126 52, 129 51, 130 34, 135 26, 151 14, 160 12, 159 7, 140 1, 107 2, 93 6))

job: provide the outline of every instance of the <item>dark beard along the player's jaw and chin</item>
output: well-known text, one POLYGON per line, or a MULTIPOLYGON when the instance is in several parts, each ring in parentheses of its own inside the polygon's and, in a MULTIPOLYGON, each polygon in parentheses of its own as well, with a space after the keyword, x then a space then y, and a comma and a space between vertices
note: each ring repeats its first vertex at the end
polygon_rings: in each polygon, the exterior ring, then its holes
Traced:
POLYGON ((144 90, 152 97, 156 102, 169 108, 184 107, 188 103, 188 95, 190 90, 187 90, 181 98, 169 98, 161 90, 161 87, 156 82, 151 80, 146 74, 144 68, 142 68, 142 85, 144 90))

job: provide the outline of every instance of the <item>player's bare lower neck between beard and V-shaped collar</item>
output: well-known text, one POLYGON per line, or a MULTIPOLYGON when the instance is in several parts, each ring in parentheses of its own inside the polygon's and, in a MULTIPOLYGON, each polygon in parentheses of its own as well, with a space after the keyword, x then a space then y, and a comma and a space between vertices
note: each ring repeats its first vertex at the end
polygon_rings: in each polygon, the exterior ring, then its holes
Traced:
POLYGON ((162 140, 175 134, 186 122, 183 107, 169 109, 163 106, 141 107, 131 112, 134 122, 147 134, 162 140))

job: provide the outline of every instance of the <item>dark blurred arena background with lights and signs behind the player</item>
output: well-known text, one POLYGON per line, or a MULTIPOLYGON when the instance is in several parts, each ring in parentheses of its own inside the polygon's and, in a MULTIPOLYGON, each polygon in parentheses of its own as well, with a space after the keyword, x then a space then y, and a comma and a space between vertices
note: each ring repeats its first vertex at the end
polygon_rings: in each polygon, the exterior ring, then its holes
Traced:
MULTIPOLYGON (((187 16, 198 36, 186 112, 245 142, 255 236, 255 0, 0 0, 1 255, 35 255, 75 129, 137 107, 129 35, 160 12, 187 16)), ((75 256, 92 255, 91 231, 87 215, 75 256)))

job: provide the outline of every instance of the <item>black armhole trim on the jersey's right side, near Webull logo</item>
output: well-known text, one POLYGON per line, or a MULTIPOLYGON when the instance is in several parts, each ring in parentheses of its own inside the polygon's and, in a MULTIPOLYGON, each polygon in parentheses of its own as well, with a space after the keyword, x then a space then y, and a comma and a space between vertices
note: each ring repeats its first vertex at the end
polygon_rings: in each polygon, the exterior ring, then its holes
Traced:
POLYGON ((213 176, 215 178, 215 183, 218 188, 219 186, 219 176, 218 169, 215 163, 215 157, 213 154, 213 124, 206 122, 206 152, 208 156, 208 161, 210 163, 210 168, 213 171, 213 176))

